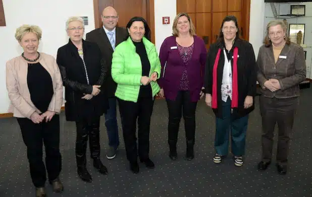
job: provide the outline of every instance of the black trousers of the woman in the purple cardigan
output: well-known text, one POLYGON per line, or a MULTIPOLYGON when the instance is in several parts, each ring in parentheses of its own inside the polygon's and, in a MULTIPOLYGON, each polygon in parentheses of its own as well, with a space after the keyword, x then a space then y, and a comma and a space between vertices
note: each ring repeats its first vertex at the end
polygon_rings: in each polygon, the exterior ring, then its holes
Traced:
POLYGON ((189 91, 179 91, 176 100, 166 99, 169 122, 168 143, 176 144, 178 139, 180 120, 183 114, 185 137, 188 144, 194 144, 195 139, 195 111, 197 102, 192 102, 189 91))

